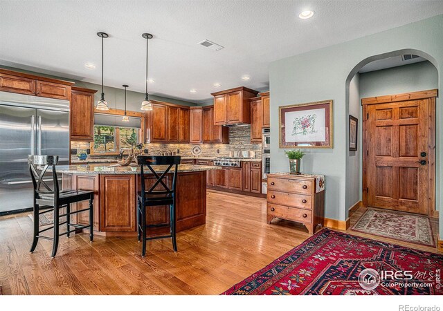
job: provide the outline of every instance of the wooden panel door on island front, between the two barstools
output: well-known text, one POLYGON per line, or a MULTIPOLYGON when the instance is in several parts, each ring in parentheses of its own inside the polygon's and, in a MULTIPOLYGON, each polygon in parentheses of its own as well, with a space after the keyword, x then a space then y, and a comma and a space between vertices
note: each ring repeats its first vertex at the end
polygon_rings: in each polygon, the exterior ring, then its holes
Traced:
POLYGON ((100 231, 136 231, 136 175, 100 175, 100 231))

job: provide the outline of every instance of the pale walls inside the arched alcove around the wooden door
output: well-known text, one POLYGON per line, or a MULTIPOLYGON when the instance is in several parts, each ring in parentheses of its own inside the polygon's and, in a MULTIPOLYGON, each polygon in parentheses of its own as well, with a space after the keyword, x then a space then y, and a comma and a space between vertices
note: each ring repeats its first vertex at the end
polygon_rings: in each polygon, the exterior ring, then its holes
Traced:
MULTIPOLYGON (((349 210, 362 200, 363 196, 363 118, 361 98, 381 95, 393 95, 397 93, 409 93, 415 91, 425 91, 427 89, 438 88, 439 73, 436 60, 427 53, 415 49, 395 50, 390 53, 374 55, 363 59, 350 71, 345 82, 345 113, 346 113, 346 147, 349 145, 349 120, 348 115, 353 115, 359 120, 359 133, 357 140, 357 151, 346 151, 346 217, 349 210), (374 61, 399 57, 401 55, 418 55, 426 59, 426 62, 406 64, 404 66, 386 68, 371 71, 370 73, 359 73, 361 68, 374 61), (416 75, 413 77, 413 75, 416 75), (408 79, 412 77, 412 79, 408 79), (384 84, 383 84, 384 83, 384 84), (378 90, 375 88, 379 88, 378 90)), ((438 105, 438 99, 437 99, 438 105)), ((437 111, 438 113, 438 111, 437 111)), ((437 120, 439 116, 437 115, 437 120)), ((437 142, 438 144, 438 142, 437 142)), ((437 146, 438 148, 438 146, 437 146)), ((438 161, 438 158, 437 158, 438 161)), ((438 170, 437 170, 438 173, 438 170)), ((436 179, 436 188, 442 187, 436 179)), ((438 193, 437 193, 438 196, 438 193)), ((438 210, 439 207, 437 206, 438 210)))

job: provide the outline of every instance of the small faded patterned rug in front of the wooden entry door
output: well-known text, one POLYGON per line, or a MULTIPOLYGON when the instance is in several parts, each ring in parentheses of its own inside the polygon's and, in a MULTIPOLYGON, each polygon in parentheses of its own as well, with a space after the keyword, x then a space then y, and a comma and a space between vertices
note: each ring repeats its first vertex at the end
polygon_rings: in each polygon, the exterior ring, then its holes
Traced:
POLYGON ((400 211, 368 209, 351 230, 435 247, 429 218, 400 211))

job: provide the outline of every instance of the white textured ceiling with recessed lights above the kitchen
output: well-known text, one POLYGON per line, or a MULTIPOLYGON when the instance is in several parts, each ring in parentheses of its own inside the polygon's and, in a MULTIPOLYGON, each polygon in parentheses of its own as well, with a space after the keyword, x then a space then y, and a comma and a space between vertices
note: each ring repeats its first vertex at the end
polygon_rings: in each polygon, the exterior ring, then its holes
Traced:
POLYGON ((150 93, 201 102, 236 86, 268 88, 276 59, 440 14, 443 1, 1 0, 0 64, 100 84, 96 32, 105 31, 105 85, 144 92, 141 34, 151 32, 150 93), (302 10, 316 14, 298 19, 302 10), (204 39, 224 49, 197 45, 204 39))

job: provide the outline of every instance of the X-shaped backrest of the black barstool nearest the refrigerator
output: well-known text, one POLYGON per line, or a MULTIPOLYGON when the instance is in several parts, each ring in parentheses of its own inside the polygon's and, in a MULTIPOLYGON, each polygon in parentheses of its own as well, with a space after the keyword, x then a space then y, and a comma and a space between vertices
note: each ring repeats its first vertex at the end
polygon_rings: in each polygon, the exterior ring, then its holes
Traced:
POLYGON ((33 179, 34 192, 38 198, 40 194, 55 194, 54 198, 59 197, 59 187, 57 180, 57 173, 55 171, 55 165, 58 164, 58 156, 28 156, 28 164, 30 177, 33 179), (51 167, 53 171, 53 184, 54 187, 51 187, 46 184, 44 178, 44 174, 51 167), (42 186, 44 189, 42 189, 42 186))

